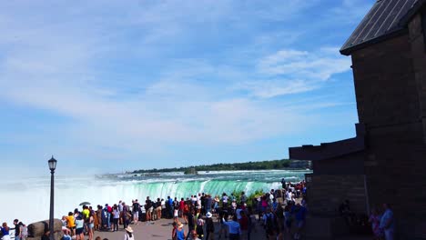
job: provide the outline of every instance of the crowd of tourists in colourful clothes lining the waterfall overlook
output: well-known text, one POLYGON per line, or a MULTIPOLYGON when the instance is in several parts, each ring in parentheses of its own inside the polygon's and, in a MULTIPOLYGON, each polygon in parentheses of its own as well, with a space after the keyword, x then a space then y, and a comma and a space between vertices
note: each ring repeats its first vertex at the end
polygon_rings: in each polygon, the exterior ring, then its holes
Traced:
POLYGON ((133 230, 129 225, 141 221, 150 224, 161 218, 173 219, 172 239, 177 240, 214 239, 215 232, 218 239, 250 239, 256 225, 262 225, 261 231, 268 239, 283 239, 283 234, 296 225, 294 238, 299 239, 307 213, 303 200, 305 183, 282 184, 282 189, 271 189, 251 198, 244 192, 215 196, 198 193, 186 198, 167 196, 156 200, 147 196, 143 203, 137 199, 131 204, 118 201, 97 205, 95 209, 83 205, 82 209, 76 208, 62 217, 64 240, 83 240, 85 235, 93 240, 94 231, 115 232, 121 227, 126 230, 126 239, 130 239, 133 230))

